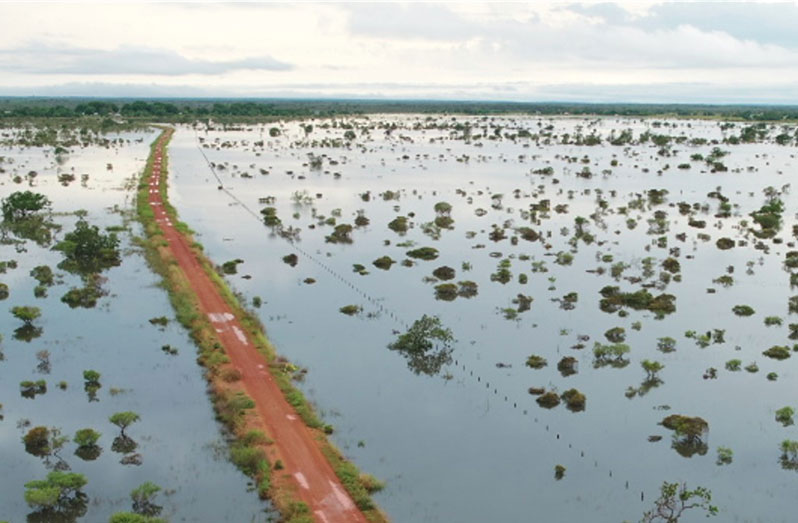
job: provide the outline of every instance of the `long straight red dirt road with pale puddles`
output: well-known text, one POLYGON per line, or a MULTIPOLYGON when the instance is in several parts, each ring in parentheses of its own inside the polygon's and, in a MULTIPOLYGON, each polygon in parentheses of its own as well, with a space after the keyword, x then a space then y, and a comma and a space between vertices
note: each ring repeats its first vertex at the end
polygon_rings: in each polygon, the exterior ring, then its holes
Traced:
POLYGON ((257 412, 284 469, 274 474, 290 474, 299 499, 310 507, 321 523, 366 522, 355 506, 332 466, 321 453, 314 434, 286 402, 280 388, 269 374, 265 358, 259 354, 247 332, 233 315, 202 266, 194 256, 186 238, 171 223, 158 190, 163 156, 163 137, 154 153, 149 180, 149 204, 163 231, 169 248, 177 259, 199 299, 201 311, 216 329, 219 341, 231 363, 241 372, 247 394, 255 401, 257 412))

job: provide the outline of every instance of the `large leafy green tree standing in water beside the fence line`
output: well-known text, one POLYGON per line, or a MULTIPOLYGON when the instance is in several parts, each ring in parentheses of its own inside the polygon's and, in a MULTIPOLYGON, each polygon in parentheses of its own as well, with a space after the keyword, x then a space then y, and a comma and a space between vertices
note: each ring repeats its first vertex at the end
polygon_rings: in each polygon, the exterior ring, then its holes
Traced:
POLYGON ((408 360, 407 366, 415 374, 433 376, 443 365, 451 362, 452 349, 448 344, 452 339, 452 331, 443 326, 440 318, 425 314, 388 348, 404 355, 408 360), (443 346, 438 347, 435 342, 443 346))

